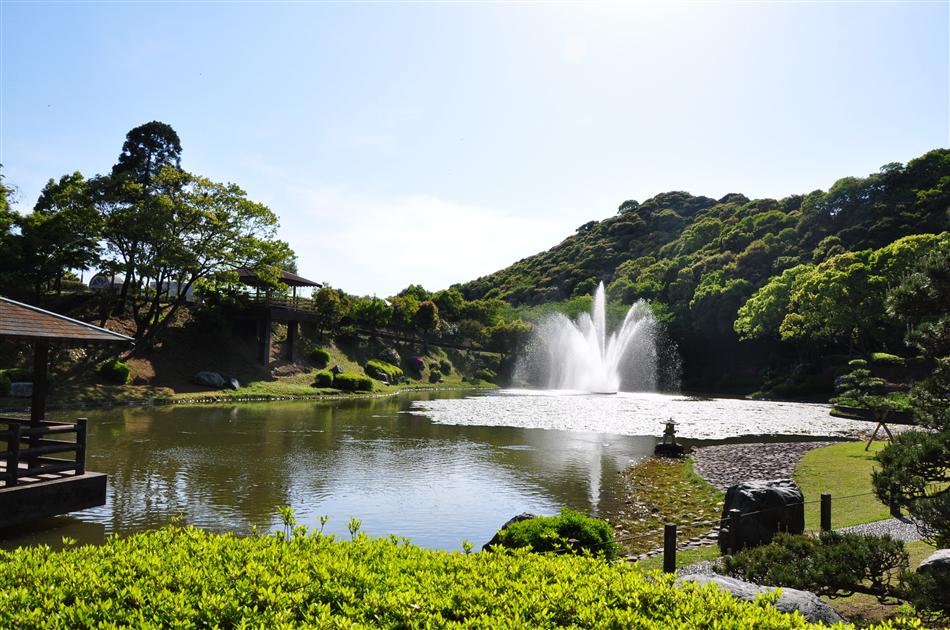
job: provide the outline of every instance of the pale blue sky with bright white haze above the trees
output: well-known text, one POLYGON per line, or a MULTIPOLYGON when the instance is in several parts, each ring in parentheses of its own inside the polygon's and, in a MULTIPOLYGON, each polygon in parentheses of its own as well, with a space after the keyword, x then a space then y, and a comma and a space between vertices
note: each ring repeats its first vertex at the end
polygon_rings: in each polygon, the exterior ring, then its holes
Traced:
POLYGON ((16 208, 159 120, 301 275, 445 288, 626 199, 781 198, 950 146, 950 3, 0 0, 16 208))

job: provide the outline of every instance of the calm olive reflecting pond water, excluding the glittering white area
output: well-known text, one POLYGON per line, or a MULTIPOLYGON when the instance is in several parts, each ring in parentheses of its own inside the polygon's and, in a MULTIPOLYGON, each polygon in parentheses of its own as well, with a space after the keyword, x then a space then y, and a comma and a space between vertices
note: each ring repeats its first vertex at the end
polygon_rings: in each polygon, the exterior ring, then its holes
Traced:
MULTIPOLYGON (((513 514, 562 505, 599 514, 620 500, 619 475, 653 438, 433 424, 413 400, 461 392, 337 402, 125 408, 89 417, 90 470, 109 475, 107 504, 51 519, 3 546, 95 542, 180 516, 215 531, 298 520, 346 534, 395 533, 433 548, 481 544, 513 514)), ((69 417, 73 413, 60 413, 69 417)))

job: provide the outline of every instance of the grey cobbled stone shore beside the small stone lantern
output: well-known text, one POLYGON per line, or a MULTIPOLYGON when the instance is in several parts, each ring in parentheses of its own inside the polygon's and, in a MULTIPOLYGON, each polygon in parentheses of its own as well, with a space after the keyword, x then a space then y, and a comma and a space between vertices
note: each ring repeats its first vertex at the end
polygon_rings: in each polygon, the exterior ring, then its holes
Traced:
POLYGON ((808 451, 834 442, 719 444, 691 453, 696 473, 720 490, 750 479, 790 479, 808 451))

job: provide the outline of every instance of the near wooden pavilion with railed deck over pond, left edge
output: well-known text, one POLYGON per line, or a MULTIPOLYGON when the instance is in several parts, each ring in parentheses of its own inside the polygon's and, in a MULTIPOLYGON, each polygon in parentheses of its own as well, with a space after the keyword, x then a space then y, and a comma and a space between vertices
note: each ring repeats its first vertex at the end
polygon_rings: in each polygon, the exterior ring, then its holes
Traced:
POLYGON ((33 347, 30 417, 0 417, 0 445, 6 446, 0 451, 0 527, 104 505, 106 475, 86 470, 85 418, 46 420, 49 350, 54 343, 129 344, 132 338, 0 297, 0 339, 33 347))

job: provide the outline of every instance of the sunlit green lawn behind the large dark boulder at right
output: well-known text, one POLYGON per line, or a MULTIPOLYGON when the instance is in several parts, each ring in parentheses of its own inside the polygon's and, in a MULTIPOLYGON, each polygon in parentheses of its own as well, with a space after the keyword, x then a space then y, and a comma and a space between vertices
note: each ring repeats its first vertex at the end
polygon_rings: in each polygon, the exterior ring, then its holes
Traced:
POLYGON ((806 530, 819 529, 817 501, 825 492, 831 494, 831 526, 834 528, 890 518, 886 505, 873 494, 865 494, 871 492, 871 471, 877 465, 874 455, 883 450, 885 444, 874 442, 871 449, 865 451, 865 442, 841 442, 805 454, 794 477, 805 495, 806 530), (855 494, 864 496, 844 498, 855 494))

